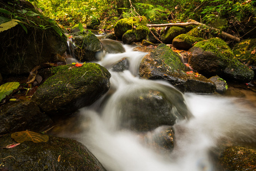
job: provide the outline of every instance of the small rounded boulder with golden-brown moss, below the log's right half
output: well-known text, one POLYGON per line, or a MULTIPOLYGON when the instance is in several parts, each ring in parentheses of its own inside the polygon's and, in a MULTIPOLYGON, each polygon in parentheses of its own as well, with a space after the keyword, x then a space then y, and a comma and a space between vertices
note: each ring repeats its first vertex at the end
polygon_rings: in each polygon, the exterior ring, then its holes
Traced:
POLYGON ((194 43, 204 40, 203 38, 196 38, 188 34, 180 34, 172 40, 173 47, 180 50, 189 50, 194 43))

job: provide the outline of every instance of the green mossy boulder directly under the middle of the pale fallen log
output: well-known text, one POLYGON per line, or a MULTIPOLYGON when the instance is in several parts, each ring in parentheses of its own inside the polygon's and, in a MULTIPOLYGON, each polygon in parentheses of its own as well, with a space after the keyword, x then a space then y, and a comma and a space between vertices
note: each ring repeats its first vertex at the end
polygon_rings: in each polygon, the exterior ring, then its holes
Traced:
POLYGON ((176 36, 185 34, 186 32, 188 32, 188 30, 185 27, 166 27, 163 34, 160 36, 160 39, 163 43, 172 44, 172 40, 176 36))

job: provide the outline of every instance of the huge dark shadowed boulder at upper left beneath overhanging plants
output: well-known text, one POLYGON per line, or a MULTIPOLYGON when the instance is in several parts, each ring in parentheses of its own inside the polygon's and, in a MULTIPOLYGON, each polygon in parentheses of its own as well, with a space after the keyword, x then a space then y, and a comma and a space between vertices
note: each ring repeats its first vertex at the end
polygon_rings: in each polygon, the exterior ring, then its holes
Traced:
MULTIPOLYGON (((1 7, 1 5, 0 5, 1 7)), ((60 36, 59 28, 48 18, 33 17, 37 26, 26 25, 27 33, 20 25, 0 33, 0 72, 2 75, 29 74, 36 66, 56 62, 57 54, 67 50, 67 38, 60 36), (36 19, 35 19, 36 18, 36 19), (38 25, 49 26, 46 30, 38 25), (15 41, 14 41, 15 40, 15 41)), ((31 18, 30 18, 31 19, 31 18)))

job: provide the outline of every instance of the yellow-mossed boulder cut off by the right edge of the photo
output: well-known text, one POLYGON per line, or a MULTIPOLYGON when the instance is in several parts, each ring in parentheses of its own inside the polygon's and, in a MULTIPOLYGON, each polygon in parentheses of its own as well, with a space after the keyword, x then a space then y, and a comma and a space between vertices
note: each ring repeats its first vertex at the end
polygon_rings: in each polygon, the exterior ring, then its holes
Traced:
POLYGON ((246 39, 235 44, 233 53, 240 62, 256 66, 256 39, 246 39))

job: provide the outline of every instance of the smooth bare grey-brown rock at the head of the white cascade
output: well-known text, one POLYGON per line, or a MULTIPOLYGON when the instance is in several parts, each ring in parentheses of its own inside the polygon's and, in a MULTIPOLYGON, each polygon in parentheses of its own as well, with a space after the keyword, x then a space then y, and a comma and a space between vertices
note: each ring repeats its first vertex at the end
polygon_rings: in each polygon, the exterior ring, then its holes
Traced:
POLYGON ((119 54, 125 52, 125 48, 121 42, 111 39, 100 40, 103 50, 109 54, 119 54))

